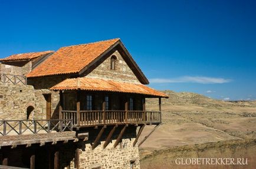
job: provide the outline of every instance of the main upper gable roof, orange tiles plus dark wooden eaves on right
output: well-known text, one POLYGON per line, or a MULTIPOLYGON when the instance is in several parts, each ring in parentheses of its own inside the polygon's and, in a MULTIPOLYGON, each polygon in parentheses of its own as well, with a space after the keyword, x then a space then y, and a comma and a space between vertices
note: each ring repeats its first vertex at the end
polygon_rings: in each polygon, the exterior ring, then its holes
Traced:
POLYGON ((27 77, 41 77, 51 75, 78 74, 88 70, 92 65, 95 65, 97 60, 102 58, 113 49, 122 50, 123 55, 126 55, 128 64, 138 79, 143 84, 148 84, 146 76, 139 69, 132 56, 119 38, 104 40, 100 42, 87 43, 83 45, 67 46, 57 50, 47 60, 37 66, 32 72, 28 73, 27 77))

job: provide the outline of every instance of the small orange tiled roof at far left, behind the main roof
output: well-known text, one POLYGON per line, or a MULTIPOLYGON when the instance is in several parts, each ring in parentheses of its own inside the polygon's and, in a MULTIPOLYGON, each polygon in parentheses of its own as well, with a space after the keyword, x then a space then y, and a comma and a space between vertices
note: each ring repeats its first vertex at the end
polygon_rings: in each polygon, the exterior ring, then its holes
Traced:
POLYGON ((17 61, 17 60, 31 60, 52 52, 54 51, 48 50, 44 52, 19 53, 19 54, 8 56, 7 58, 4 58, 4 59, 0 59, 0 61, 8 62, 8 61, 17 61))

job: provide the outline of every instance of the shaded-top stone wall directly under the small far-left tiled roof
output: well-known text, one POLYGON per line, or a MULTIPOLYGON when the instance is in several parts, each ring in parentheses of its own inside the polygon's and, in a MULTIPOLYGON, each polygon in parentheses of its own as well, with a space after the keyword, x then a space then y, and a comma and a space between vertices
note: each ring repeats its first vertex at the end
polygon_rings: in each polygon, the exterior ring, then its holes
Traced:
POLYGON ((0 74, 24 76, 32 70, 32 61, 2 62, 0 63, 0 74))

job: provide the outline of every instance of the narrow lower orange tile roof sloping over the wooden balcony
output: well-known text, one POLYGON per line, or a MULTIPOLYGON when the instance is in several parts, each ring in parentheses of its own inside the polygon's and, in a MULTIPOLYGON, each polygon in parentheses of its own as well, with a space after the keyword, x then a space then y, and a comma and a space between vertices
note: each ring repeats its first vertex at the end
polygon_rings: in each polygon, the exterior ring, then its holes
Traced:
POLYGON ((51 90, 93 90, 107 92, 122 92, 145 94, 155 97, 166 97, 165 93, 147 87, 142 84, 117 82, 114 80, 93 79, 88 77, 78 77, 73 79, 65 79, 63 82, 51 87, 51 90))

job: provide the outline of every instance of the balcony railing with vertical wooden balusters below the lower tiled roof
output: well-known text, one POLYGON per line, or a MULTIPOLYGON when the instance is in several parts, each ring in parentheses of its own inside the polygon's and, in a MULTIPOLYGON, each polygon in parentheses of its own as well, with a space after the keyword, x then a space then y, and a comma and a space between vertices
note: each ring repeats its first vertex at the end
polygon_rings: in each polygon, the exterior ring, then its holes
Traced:
POLYGON ((95 126, 98 124, 160 123, 160 111, 137 110, 81 110, 77 123, 76 110, 62 110, 63 119, 73 119, 74 126, 95 126))

